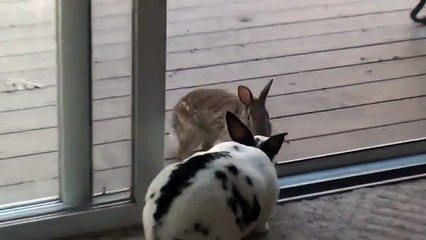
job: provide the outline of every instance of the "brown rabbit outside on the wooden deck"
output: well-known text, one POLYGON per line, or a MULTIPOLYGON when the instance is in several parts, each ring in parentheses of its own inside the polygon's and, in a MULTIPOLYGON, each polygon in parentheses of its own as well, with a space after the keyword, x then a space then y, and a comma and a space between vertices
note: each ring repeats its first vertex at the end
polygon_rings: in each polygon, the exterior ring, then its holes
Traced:
POLYGON ((200 144, 205 151, 217 141, 229 141, 225 125, 227 111, 238 116, 254 135, 271 136, 265 100, 272 81, 257 99, 245 86, 238 86, 238 96, 221 89, 196 89, 180 99, 172 120, 179 141, 178 157, 181 160, 189 157, 200 144))

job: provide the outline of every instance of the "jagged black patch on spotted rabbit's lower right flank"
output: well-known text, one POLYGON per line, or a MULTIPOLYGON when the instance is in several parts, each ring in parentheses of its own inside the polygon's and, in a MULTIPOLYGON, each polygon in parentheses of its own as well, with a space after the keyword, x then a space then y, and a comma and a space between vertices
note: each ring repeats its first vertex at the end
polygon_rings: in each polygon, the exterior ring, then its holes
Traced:
POLYGON ((253 201, 250 205, 235 185, 232 186, 232 196, 241 209, 241 223, 243 225, 247 226, 259 218, 260 204, 256 196, 253 196, 253 201))

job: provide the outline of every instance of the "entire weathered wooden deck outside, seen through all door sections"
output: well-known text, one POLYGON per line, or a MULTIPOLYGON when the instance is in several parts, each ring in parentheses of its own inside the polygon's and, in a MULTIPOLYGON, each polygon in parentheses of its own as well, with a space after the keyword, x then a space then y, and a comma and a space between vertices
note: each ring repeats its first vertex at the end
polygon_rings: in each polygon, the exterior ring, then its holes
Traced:
MULTIPOLYGON (((94 189, 130 185, 130 2, 93 0, 94 189)), ((197 87, 256 94, 271 78, 279 161, 426 136, 417 0, 168 0, 171 109, 197 87)), ((53 0, 0 1, 0 205, 58 194, 53 0), (40 14, 42 11, 42 14, 40 14), (8 92, 7 79, 43 87, 8 92)))

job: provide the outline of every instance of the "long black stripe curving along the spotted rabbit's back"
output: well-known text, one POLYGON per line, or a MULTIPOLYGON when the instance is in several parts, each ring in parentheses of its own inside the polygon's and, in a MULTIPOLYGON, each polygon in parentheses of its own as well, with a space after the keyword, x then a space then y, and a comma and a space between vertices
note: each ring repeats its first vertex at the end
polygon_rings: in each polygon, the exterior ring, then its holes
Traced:
POLYGON ((203 155, 194 156, 183 162, 180 166, 174 169, 167 183, 160 189, 159 197, 157 198, 157 210, 154 213, 155 221, 159 221, 167 214, 169 208, 176 197, 182 191, 191 185, 191 179, 214 160, 219 158, 230 158, 229 152, 214 152, 203 155))

